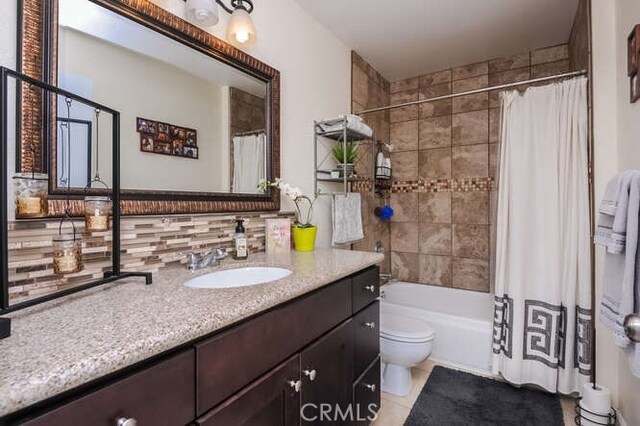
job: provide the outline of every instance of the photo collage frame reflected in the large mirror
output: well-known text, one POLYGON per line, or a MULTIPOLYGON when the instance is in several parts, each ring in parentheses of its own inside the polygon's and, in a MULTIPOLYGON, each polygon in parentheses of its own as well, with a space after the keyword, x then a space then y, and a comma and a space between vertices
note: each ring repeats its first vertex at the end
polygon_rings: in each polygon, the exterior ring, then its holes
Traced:
POLYGON ((136 118, 140 151, 193 160, 199 158, 198 131, 147 118, 136 118))

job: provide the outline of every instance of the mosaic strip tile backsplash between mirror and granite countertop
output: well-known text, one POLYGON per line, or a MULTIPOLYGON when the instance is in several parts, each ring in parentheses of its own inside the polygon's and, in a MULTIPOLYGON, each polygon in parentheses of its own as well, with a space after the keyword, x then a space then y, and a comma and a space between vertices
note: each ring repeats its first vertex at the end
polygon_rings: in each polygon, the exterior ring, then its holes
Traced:
MULTIPOLYGON (((233 246, 236 217, 246 219, 251 253, 264 251, 264 220, 291 218, 292 213, 228 213, 124 217, 121 221, 121 263, 125 271, 156 272, 185 262, 184 253, 233 246)), ((84 269, 53 273, 52 238, 59 220, 25 220, 9 224, 9 299, 12 303, 50 294, 101 278, 111 268, 111 231, 82 234, 84 269)), ((70 225, 65 225, 70 226, 70 225)))

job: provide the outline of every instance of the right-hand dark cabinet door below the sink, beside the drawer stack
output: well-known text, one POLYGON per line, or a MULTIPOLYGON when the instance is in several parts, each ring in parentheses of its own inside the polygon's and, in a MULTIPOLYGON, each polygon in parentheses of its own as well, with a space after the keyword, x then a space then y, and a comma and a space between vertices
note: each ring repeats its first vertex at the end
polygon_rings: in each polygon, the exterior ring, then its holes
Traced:
POLYGON ((352 320, 322 337, 300 356, 302 424, 351 424, 352 320))

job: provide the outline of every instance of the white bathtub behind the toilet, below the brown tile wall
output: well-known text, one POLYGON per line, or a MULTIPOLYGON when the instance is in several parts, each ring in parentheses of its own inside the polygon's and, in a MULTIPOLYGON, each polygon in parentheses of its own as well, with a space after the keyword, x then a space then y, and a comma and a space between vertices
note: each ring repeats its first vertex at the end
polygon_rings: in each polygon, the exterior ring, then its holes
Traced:
POLYGON ((386 284, 381 291, 381 313, 416 316, 435 330, 429 359, 492 375, 493 295, 407 282, 386 284))

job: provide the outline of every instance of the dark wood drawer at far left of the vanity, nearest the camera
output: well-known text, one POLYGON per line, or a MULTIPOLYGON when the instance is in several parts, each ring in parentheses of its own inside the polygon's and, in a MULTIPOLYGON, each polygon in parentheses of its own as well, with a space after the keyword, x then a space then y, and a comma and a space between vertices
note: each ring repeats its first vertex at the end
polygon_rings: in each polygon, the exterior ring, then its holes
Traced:
POLYGON ((139 425, 187 424, 195 417, 193 349, 52 410, 29 426, 114 426, 119 418, 139 425))

